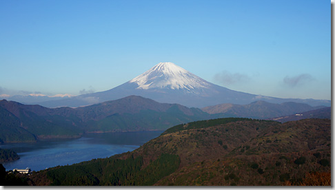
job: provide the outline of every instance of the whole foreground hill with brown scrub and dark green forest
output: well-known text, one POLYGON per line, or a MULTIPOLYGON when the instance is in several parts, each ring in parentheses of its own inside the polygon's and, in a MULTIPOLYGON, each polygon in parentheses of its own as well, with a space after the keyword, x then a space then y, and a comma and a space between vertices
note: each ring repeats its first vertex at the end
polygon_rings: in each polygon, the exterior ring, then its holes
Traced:
POLYGON ((165 132, 132 152, 33 173, 28 182, 34 185, 330 185, 331 122, 328 119, 278 123, 223 118, 182 127, 165 132))

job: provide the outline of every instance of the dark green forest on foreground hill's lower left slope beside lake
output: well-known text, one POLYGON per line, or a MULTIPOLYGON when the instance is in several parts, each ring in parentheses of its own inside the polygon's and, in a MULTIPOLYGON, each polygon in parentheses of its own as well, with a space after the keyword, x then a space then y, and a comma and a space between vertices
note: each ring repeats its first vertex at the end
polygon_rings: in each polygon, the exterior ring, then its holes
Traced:
POLYGON ((50 185, 149 186, 173 173, 180 162, 179 156, 172 154, 161 154, 148 166, 143 165, 142 156, 130 156, 125 160, 115 157, 51 169, 47 171, 48 178, 52 180, 50 185))

